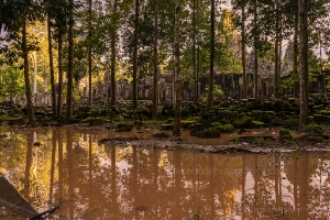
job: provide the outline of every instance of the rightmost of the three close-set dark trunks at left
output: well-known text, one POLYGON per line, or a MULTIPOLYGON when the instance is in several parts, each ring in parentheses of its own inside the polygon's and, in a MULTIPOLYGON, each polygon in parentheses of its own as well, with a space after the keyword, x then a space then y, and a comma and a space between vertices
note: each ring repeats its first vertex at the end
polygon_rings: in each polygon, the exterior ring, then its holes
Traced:
POLYGON ((69 0, 69 28, 68 28, 68 72, 67 72, 67 97, 66 118, 73 119, 73 85, 74 85, 74 0, 69 0))

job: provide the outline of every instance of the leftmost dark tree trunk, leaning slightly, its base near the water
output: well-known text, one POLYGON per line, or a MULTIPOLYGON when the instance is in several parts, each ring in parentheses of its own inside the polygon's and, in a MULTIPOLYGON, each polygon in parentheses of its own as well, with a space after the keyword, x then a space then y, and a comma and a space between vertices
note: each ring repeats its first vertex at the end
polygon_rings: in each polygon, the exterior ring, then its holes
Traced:
POLYGON ((29 77, 29 55, 28 55, 28 45, 26 45, 26 19, 23 19, 22 24, 22 51, 23 51, 23 59, 24 59, 24 82, 25 82, 25 96, 26 96, 26 105, 28 105, 28 123, 34 125, 34 108, 32 103, 32 92, 31 92, 31 84, 29 77))

